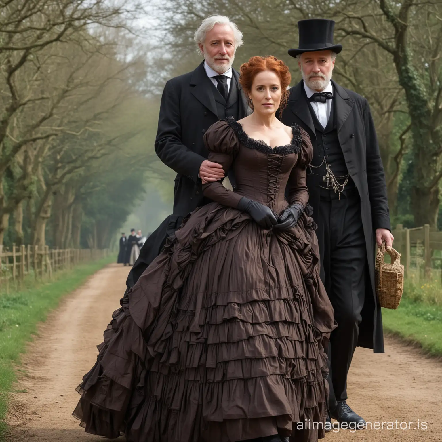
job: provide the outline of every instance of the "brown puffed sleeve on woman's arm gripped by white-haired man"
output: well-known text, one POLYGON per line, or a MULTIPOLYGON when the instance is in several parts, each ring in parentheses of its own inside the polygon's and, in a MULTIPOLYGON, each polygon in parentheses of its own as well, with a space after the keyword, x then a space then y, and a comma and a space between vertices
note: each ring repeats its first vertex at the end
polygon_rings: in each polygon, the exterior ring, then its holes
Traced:
MULTIPOLYGON (((204 144, 209 151, 209 161, 221 164, 225 175, 232 166, 240 145, 236 132, 225 120, 220 120, 210 126, 203 137, 204 144)), ((223 206, 236 209, 241 195, 226 189, 221 181, 202 185, 202 193, 223 206)))

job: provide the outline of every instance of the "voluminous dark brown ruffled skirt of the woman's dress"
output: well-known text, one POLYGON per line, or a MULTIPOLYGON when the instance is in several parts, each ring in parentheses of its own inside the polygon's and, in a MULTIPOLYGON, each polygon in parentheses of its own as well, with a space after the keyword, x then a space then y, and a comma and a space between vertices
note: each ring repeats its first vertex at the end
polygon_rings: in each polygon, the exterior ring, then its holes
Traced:
POLYGON ((326 418, 334 321, 318 257, 305 213, 273 232, 197 209, 121 300, 73 415, 128 442, 324 437, 296 430, 326 418))

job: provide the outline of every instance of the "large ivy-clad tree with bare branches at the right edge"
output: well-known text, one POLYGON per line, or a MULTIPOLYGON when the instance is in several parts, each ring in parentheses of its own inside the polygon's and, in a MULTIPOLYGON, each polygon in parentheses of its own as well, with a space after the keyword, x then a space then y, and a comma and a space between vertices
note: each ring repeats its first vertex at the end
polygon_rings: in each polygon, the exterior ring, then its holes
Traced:
MULTIPOLYGON (((347 2, 343 2, 347 4, 347 2)), ((338 31, 376 44, 394 63, 410 117, 401 140, 412 135, 412 212, 416 225, 436 227, 442 177, 442 4, 435 1, 367 1, 358 13, 341 13, 338 31)))

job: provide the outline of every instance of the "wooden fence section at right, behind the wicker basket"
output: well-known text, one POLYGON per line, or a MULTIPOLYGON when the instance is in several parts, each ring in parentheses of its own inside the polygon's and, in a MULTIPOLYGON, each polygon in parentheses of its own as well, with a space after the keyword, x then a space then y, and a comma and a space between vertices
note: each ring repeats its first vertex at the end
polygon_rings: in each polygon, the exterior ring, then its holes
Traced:
POLYGON ((442 254, 435 253, 442 251, 442 232, 430 229, 428 224, 413 229, 404 229, 402 224, 398 224, 392 234, 393 247, 402 255, 401 263, 406 275, 410 275, 413 267, 421 267, 419 261, 427 275, 436 264, 442 267, 442 254))

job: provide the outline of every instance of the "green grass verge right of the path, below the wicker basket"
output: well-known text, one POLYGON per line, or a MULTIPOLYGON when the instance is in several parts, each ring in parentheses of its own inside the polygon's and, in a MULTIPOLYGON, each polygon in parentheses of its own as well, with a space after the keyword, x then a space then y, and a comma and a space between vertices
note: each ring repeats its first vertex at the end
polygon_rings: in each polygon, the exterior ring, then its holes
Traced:
POLYGON ((442 306, 403 297, 397 310, 382 309, 384 330, 418 344, 425 353, 442 356, 442 306))

